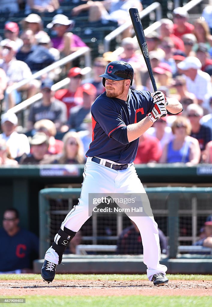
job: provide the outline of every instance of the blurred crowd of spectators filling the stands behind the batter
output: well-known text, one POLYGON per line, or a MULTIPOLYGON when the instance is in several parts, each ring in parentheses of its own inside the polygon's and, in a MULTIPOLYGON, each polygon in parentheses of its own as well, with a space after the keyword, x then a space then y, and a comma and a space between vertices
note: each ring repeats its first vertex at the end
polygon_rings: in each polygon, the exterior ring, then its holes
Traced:
MULTIPOLYGON (((153 92, 131 28, 123 34, 119 55, 105 52, 92 60, 89 78, 84 75, 83 65, 70 63, 31 80, 33 73, 86 46, 72 33, 75 22, 70 16, 87 11, 89 22, 104 24, 111 20, 121 25, 129 18, 129 7, 135 6, 132 0, 84 1, 76 4, 68 17, 59 10, 62 2, 66 1, 17 0, 1 5, 0 13, 14 14, 18 7, 25 7, 29 13, 18 23, 6 21, 0 41, 1 165, 84 163, 92 141, 91 106, 104 92, 99 75, 112 60, 124 60, 133 66, 132 89, 153 92), (55 13, 46 28, 43 12, 55 13), (53 91, 53 84, 65 77, 69 84, 53 91), (29 82, 22 87, 6 91, 25 79, 29 82), (37 93, 42 98, 23 111, 23 124, 20 114, 17 117, 10 109, 37 93)), ((142 1, 136 6, 141 11, 142 1)), ((140 137, 136 164, 189 166, 212 161, 211 12, 211 6, 206 6, 203 17, 190 23, 186 10, 175 8, 172 20, 161 19, 158 31, 146 35, 158 90, 176 97, 183 112, 159 119, 140 137)))

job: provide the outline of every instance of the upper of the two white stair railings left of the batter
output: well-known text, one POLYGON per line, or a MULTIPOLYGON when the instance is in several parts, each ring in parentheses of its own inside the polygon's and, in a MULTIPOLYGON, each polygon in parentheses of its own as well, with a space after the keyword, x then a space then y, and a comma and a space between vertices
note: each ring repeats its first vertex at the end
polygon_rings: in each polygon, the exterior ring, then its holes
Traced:
POLYGON ((6 93, 10 94, 12 91, 17 90, 18 88, 24 86, 25 84, 29 83, 29 81, 33 79, 37 79, 41 77, 42 75, 46 74, 47 72, 50 72, 51 70, 58 68, 62 65, 65 65, 66 63, 76 59, 79 56, 85 56, 85 65, 91 66, 91 56, 90 56, 90 48, 89 47, 82 47, 79 50, 73 52, 72 54, 69 54, 68 56, 65 56, 63 59, 58 60, 57 62, 54 62, 53 64, 39 70, 39 72, 34 73, 29 79, 24 79, 16 84, 13 84, 9 86, 6 89, 6 93))

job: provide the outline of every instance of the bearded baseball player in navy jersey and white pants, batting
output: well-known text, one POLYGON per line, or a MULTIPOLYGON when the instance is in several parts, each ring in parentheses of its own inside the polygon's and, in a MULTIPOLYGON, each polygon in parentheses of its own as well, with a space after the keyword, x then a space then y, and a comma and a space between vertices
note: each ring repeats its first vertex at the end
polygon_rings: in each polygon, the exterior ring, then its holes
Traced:
MULTIPOLYGON (((93 137, 86 153, 79 202, 67 214, 55 235, 52 246, 46 251, 41 269, 44 281, 52 282, 57 264, 80 227, 88 220, 88 193, 145 193, 133 161, 139 136, 163 114, 178 114, 181 103, 157 91, 130 89, 133 68, 123 61, 113 61, 101 75, 105 92, 96 98, 91 108, 93 137)), ((147 196, 146 196, 147 198, 147 196)), ((148 210, 151 210, 147 198, 148 210)), ((96 205, 93 205, 96 207, 96 205)), ((158 225, 151 216, 131 216, 139 228, 143 243, 143 262, 147 277, 154 285, 167 285, 167 267, 161 265, 158 225)))

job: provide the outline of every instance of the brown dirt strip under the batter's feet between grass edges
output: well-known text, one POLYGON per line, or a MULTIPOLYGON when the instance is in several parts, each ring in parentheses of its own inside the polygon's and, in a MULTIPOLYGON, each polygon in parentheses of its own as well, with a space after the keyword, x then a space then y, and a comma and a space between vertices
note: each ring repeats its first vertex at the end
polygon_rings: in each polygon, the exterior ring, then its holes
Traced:
POLYGON ((0 296, 20 295, 62 296, 123 296, 123 295, 167 295, 167 296, 212 296, 212 281, 170 281, 168 286, 153 286, 149 281, 59 281, 2 280, 0 296))

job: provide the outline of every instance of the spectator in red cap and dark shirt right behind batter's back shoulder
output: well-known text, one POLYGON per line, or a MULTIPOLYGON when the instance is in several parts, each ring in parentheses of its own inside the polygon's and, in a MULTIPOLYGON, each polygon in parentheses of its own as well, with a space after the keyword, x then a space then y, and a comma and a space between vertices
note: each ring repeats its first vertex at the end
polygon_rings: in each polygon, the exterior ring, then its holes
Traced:
POLYGON ((73 107, 68 119, 70 130, 86 130, 84 118, 91 112, 91 106, 96 97, 96 87, 93 84, 85 83, 82 85, 83 103, 80 106, 73 107))

